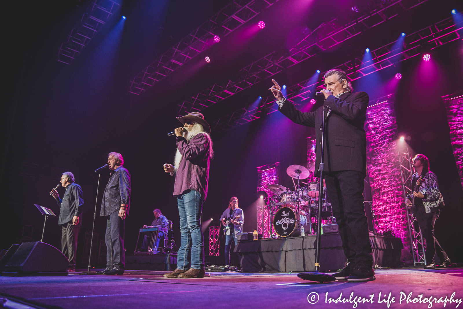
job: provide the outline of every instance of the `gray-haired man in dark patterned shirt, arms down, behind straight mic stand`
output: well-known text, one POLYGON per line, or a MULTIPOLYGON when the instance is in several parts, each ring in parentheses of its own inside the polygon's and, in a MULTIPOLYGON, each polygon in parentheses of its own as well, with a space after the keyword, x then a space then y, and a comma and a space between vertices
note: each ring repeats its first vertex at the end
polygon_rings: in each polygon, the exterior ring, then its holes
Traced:
POLYGON ((106 269, 97 271, 102 275, 122 275, 125 271, 124 232, 125 218, 130 208, 130 173, 122 165, 124 158, 118 152, 108 154, 111 170, 103 201, 100 217, 106 216, 106 269))

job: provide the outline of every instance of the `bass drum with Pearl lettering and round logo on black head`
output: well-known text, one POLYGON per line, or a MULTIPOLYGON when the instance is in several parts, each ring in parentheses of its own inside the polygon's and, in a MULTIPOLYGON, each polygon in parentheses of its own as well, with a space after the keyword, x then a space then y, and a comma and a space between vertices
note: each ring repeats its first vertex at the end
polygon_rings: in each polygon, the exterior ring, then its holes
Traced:
POLYGON ((273 229, 280 237, 299 236, 301 226, 306 231, 310 228, 308 220, 309 217, 305 214, 298 214, 293 208, 282 207, 273 217, 273 229))

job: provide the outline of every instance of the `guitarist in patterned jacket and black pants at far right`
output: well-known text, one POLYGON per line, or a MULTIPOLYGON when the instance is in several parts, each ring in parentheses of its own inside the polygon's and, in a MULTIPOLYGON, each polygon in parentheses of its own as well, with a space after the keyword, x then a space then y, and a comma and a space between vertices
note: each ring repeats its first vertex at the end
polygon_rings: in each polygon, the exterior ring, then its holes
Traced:
POLYGON ((425 269, 436 268, 434 255, 442 261, 438 268, 452 265, 447 253, 439 245, 434 236, 434 223, 439 217, 439 212, 444 206, 444 199, 439 191, 436 174, 429 170, 429 159, 425 155, 417 154, 413 158, 413 167, 416 173, 412 178, 413 194, 407 196, 405 203, 413 207, 413 215, 418 221, 423 238, 426 240, 426 263, 425 269))

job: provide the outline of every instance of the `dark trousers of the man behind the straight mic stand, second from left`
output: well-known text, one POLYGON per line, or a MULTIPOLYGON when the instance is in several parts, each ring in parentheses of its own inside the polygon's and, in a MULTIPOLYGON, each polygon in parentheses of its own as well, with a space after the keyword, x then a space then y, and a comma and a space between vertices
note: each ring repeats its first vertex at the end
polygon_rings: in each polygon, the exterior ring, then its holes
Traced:
POLYGON ((106 216, 105 242, 108 252, 106 253, 106 268, 125 270, 124 251, 124 230, 125 220, 119 217, 119 209, 106 216))

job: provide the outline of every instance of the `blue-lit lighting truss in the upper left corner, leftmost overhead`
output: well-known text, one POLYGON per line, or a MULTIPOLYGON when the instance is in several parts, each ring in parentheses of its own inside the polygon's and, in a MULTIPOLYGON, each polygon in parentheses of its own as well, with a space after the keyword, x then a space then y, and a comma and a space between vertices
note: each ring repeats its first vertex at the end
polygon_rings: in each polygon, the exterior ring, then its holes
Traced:
POLYGON ((81 20, 61 43, 56 60, 71 64, 85 46, 119 10, 122 0, 93 0, 81 20))

